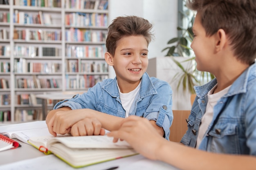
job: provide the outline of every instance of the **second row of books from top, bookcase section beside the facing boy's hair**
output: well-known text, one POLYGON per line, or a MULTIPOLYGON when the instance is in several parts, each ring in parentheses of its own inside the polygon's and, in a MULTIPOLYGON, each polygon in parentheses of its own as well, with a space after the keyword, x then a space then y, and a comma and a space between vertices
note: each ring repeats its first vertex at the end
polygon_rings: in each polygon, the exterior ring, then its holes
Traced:
POLYGON ((70 26, 108 26, 106 13, 67 13, 65 24, 70 26))

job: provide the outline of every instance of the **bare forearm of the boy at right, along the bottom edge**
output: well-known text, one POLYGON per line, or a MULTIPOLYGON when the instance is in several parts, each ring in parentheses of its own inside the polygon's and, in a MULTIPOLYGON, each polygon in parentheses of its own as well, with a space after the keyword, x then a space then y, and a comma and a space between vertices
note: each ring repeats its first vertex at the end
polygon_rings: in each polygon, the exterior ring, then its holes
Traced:
POLYGON ((156 157, 181 170, 255 170, 256 162, 255 156, 211 153, 164 140, 156 157))

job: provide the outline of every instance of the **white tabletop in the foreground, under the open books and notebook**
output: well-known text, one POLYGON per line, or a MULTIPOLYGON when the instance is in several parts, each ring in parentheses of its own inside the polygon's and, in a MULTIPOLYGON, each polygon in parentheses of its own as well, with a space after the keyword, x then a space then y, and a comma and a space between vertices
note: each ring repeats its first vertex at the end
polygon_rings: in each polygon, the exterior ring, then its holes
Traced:
MULTIPOLYGON (((18 139, 16 139, 18 141, 18 139)), ((146 159, 142 155, 135 155, 107 161, 96 165, 72 168, 55 155, 44 155, 33 146, 21 141, 20 148, 0 152, 1 170, 106 170, 118 166, 116 170, 178 170, 160 161, 146 159)))

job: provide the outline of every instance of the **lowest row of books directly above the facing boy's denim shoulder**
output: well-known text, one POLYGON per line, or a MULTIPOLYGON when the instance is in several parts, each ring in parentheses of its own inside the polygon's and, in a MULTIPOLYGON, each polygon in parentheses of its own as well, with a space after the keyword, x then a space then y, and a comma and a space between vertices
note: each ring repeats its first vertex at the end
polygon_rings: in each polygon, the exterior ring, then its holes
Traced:
POLYGON ((107 79, 108 75, 83 75, 79 78, 66 75, 66 89, 85 89, 94 86, 97 82, 107 79))

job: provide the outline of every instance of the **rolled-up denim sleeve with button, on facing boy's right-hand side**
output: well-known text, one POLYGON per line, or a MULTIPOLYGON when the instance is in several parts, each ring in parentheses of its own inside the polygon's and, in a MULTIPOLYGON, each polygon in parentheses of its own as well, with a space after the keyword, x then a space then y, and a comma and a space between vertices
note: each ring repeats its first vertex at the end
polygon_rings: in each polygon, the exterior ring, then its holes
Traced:
POLYGON ((164 81, 153 82, 157 94, 152 95, 144 117, 149 120, 155 120, 157 126, 164 129, 164 137, 169 140, 170 126, 173 121, 172 112, 172 89, 164 81))

